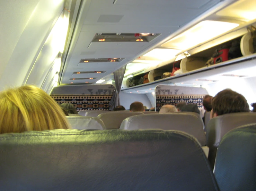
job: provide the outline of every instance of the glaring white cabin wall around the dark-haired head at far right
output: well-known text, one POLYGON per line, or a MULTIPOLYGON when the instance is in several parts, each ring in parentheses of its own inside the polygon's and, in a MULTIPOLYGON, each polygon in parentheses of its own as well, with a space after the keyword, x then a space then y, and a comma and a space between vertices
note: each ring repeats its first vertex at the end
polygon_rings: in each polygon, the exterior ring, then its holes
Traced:
MULTIPOLYGON (((221 81, 212 84, 205 85, 204 88, 209 92, 211 96, 215 96, 221 90, 229 88, 233 91, 236 91, 242 94, 248 104, 256 102, 256 77, 251 78, 235 78, 231 77, 232 79, 229 81, 221 81)), ((252 107, 250 106, 250 109, 252 107)))

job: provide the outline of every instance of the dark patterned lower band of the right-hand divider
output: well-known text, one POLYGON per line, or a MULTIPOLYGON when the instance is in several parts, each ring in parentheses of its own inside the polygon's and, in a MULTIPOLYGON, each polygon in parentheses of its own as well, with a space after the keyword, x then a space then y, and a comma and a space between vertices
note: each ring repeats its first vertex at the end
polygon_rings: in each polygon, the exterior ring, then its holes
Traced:
POLYGON ((177 105, 179 102, 188 104, 197 104, 198 108, 203 107, 203 98, 205 95, 156 95, 156 111, 159 111, 163 105, 177 105))

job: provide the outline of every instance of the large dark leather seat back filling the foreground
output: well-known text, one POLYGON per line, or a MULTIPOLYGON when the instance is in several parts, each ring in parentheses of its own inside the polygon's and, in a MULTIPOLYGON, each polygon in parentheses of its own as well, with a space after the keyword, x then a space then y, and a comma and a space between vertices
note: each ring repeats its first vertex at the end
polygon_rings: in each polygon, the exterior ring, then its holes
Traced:
POLYGON ((27 131, 0 134, 0 150, 0 190, 219 190, 182 132, 27 131))

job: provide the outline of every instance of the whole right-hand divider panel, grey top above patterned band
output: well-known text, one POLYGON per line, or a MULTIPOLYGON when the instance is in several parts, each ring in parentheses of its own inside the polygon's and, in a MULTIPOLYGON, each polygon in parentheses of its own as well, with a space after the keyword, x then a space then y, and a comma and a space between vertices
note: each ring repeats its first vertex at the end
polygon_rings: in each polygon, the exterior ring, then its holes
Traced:
POLYGON ((197 104, 200 109, 203 107, 203 98, 208 92, 204 88, 159 85, 155 94, 156 111, 159 111, 163 105, 176 106, 179 102, 197 104))

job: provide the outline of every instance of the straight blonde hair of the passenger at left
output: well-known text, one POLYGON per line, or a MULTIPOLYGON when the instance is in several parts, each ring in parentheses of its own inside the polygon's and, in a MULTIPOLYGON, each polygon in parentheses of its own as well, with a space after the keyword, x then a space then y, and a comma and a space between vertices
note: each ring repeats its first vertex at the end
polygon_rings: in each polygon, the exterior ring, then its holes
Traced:
POLYGON ((69 129, 59 105, 35 86, 0 93, 0 133, 69 129))

